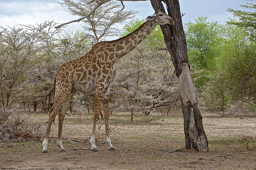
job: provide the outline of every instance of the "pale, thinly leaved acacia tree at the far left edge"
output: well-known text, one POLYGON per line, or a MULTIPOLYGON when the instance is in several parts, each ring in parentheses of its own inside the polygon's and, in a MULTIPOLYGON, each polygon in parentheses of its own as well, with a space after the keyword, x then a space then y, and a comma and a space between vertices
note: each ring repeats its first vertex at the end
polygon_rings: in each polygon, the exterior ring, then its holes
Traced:
POLYGON ((46 34, 56 34, 59 30, 51 30, 52 22, 45 22, 23 28, 2 28, 0 43, 0 88, 3 107, 21 101, 27 94, 27 73, 42 61, 47 44, 43 41, 46 34), (51 30, 51 31, 49 31, 51 30), (24 96, 25 94, 25 96, 24 96))

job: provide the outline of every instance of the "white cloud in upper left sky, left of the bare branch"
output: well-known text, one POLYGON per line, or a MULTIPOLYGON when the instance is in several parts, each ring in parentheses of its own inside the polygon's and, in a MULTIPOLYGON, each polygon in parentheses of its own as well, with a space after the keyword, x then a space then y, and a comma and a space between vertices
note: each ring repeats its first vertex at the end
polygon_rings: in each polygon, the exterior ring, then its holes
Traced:
MULTIPOLYGON (((36 25, 45 21, 65 23, 77 18, 77 16, 69 14, 55 0, 0 2, 0 26, 2 27, 14 27, 19 24, 36 25)), ((76 31, 82 27, 80 23, 72 23, 65 28, 65 30, 67 29, 76 31)))

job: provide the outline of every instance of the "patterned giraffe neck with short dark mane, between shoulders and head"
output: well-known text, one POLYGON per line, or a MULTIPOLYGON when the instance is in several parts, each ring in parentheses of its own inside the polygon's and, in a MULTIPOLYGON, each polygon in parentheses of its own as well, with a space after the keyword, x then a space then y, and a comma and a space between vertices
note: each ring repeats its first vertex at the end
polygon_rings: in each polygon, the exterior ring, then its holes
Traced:
POLYGON ((154 20, 146 21, 137 30, 125 37, 112 41, 112 45, 115 46, 115 53, 112 55, 112 64, 114 64, 119 58, 132 51, 138 44, 141 43, 148 35, 154 30, 157 24, 154 20))

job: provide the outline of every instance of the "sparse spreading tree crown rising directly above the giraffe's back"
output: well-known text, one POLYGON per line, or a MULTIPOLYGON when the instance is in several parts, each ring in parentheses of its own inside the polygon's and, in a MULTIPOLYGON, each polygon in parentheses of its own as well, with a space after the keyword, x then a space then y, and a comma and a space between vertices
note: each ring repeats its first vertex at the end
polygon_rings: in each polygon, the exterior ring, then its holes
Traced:
MULTIPOLYGON (((95 3, 89 3, 89 0, 62 0, 60 4, 68 7, 68 10, 75 16, 87 16, 95 3)), ((116 24, 134 17, 135 12, 130 10, 120 10, 122 5, 116 1, 109 1, 102 4, 86 20, 83 20, 85 37, 92 38, 95 43, 105 40, 106 37, 118 36, 119 30, 116 24)))

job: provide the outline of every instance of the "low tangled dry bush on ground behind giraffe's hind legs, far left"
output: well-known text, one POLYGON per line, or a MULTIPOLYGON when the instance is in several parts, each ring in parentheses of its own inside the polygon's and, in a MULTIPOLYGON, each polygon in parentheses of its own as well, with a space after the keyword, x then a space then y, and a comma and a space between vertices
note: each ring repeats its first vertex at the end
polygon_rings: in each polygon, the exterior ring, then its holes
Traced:
POLYGON ((39 119, 31 118, 19 109, 0 108, 0 141, 22 140, 27 138, 41 139, 46 125, 39 119))

